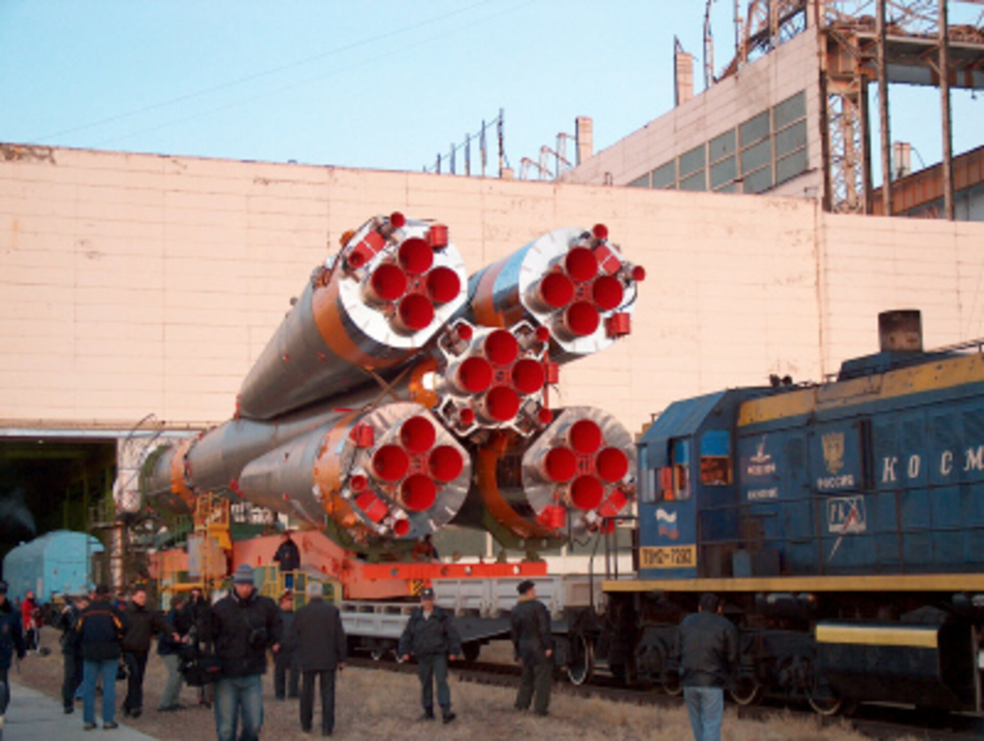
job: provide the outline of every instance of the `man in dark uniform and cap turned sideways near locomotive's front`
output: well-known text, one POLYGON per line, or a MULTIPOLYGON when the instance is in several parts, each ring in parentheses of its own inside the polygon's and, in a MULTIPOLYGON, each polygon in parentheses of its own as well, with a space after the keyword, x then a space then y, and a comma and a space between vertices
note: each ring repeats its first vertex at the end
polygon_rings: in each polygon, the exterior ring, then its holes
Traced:
POLYGON ((520 598, 510 619, 513 653, 523 666, 516 709, 528 710, 535 691, 533 711, 537 715, 546 715, 550 707, 550 678, 553 674, 550 613, 542 602, 537 601, 536 585, 532 582, 521 582, 517 589, 520 598))

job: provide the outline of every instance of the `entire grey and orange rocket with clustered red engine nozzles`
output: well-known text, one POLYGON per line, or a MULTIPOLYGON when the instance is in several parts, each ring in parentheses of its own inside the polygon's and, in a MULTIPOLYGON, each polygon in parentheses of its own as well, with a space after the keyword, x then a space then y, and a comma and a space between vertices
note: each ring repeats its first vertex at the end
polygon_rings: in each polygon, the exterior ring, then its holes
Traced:
POLYGON ((561 368, 631 331, 641 266, 561 228, 468 277, 448 227, 376 216, 312 272, 232 419, 157 448, 144 501, 211 492, 372 552, 450 524, 500 540, 597 530, 635 497, 607 412, 556 408, 561 368))

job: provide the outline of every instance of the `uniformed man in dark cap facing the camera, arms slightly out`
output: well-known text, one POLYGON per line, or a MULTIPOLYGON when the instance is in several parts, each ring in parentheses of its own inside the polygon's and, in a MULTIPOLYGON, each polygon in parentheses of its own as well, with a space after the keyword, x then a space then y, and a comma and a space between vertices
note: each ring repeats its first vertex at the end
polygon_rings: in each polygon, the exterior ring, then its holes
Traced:
POLYGON ((454 660, 461 655, 461 638, 451 615, 435 606, 434 589, 431 587, 420 592, 420 606, 410 614, 400 636, 399 650, 404 661, 409 660, 411 653, 417 658, 420 702, 424 707, 420 719, 434 719, 433 685, 437 682, 437 702, 441 706, 444 722, 450 723, 456 715, 451 711, 448 659, 454 660))

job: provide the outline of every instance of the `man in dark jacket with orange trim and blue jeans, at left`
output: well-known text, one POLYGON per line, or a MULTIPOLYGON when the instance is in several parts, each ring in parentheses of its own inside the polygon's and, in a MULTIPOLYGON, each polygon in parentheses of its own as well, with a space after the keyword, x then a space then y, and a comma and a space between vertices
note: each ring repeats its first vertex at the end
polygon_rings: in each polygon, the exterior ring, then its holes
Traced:
POLYGON ((82 645, 82 714, 87 731, 95 727, 95 680, 102 677, 102 727, 116 728, 116 668, 126 617, 109 602, 109 587, 95 587, 95 598, 79 614, 75 630, 82 645))

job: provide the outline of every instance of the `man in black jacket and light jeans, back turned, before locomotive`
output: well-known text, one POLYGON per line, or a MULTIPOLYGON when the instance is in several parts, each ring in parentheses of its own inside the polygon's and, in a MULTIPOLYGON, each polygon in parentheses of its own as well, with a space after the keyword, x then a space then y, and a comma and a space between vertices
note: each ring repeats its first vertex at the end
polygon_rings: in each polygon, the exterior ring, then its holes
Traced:
POLYGON ((716 594, 702 594, 699 612, 677 630, 680 684, 696 741, 720 741, 724 687, 738 664, 738 631, 720 611, 716 594))

